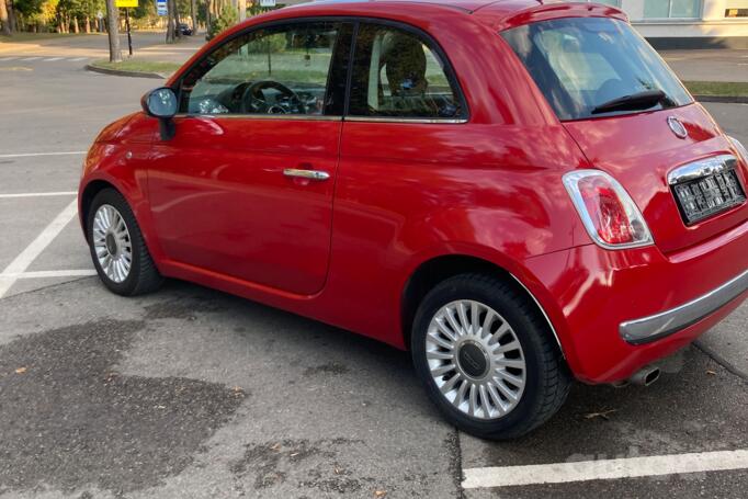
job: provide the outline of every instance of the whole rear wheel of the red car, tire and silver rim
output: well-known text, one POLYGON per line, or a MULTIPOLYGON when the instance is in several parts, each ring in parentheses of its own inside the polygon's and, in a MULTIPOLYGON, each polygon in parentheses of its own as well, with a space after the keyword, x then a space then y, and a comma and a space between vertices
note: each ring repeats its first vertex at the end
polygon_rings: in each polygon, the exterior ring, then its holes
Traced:
POLYGON ((548 420, 570 376, 534 304, 501 280, 462 274, 421 303, 411 336, 431 400, 461 430, 511 439, 548 420))

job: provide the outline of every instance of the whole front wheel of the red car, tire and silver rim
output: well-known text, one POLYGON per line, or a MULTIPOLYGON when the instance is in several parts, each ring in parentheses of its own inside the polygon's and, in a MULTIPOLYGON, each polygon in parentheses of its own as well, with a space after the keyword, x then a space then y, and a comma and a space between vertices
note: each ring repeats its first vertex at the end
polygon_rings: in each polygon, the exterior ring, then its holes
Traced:
POLYGON ((122 194, 112 189, 98 193, 87 227, 93 265, 107 288, 124 296, 158 290, 162 277, 122 194))

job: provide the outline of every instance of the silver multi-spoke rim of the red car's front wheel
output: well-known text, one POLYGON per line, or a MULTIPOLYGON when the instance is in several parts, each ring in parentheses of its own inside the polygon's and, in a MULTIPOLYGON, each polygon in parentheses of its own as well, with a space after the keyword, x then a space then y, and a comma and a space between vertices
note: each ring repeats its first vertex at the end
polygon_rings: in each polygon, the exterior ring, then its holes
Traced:
POLYGON ((112 205, 101 205, 93 216, 93 249, 107 279, 115 283, 127 279, 133 245, 125 219, 112 205))

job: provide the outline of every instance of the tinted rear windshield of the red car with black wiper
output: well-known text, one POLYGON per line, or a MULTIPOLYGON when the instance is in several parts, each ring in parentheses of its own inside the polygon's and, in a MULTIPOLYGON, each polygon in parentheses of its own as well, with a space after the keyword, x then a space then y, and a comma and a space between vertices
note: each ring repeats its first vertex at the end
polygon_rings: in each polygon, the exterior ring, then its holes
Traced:
POLYGON ((507 30, 501 36, 562 121, 691 103, 657 53, 623 21, 559 19, 507 30))

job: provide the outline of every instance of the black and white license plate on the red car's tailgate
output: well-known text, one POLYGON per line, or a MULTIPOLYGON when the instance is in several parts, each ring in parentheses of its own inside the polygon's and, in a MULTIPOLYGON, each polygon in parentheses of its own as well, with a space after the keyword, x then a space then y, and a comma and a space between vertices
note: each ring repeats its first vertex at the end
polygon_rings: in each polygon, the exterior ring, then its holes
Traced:
POLYGON ((695 224, 746 201, 746 192, 735 168, 725 167, 672 185, 685 225, 695 224))

